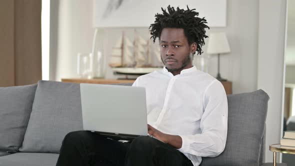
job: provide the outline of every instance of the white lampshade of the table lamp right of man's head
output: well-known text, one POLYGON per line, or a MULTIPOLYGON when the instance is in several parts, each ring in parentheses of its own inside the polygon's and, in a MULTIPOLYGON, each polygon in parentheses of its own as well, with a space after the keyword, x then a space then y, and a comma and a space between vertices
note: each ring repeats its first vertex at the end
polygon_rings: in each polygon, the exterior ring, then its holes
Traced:
POLYGON ((209 34, 207 53, 228 53, 230 52, 229 44, 224 32, 212 32, 209 34))

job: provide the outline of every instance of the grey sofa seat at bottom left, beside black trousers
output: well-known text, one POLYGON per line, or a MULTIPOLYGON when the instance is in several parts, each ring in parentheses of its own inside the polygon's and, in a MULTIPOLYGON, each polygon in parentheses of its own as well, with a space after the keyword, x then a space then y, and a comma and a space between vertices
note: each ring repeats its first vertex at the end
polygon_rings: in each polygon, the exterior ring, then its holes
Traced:
POLYGON ((0 166, 53 166, 57 158, 57 153, 18 152, 1 156, 0 166))

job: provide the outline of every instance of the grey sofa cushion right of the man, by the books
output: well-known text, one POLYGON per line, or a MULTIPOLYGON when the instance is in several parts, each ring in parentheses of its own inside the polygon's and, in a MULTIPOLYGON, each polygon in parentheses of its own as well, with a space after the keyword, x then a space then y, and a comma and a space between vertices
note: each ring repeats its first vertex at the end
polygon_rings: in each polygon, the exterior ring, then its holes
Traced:
POLYGON ((225 149, 217 157, 203 157, 200 165, 258 165, 268 99, 261 89, 227 95, 225 149))

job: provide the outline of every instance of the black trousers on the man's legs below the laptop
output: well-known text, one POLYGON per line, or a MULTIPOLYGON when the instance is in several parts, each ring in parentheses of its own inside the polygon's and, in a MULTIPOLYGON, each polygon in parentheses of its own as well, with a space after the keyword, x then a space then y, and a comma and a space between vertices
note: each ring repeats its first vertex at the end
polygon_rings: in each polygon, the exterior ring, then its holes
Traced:
POLYGON ((63 165, 185 165, 191 161, 173 146, 149 136, 120 142, 90 131, 65 135, 56 166, 63 165))

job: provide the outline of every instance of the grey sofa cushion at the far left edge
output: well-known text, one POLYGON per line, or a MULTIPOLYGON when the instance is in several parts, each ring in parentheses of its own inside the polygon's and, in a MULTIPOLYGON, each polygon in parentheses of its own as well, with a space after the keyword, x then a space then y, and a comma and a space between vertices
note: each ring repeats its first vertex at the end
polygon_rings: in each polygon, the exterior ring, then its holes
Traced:
POLYGON ((21 146, 37 84, 0 87, 0 151, 21 146))

